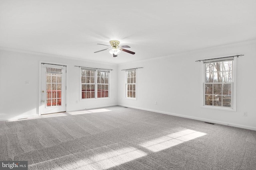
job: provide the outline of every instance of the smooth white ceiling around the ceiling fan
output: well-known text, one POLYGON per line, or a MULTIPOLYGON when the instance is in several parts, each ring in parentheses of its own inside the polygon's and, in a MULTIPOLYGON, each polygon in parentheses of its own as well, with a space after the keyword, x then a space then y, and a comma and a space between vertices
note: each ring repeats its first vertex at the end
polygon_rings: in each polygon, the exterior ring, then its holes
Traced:
POLYGON ((256 39, 256 0, 0 0, 0 47, 126 63, 256 39), (136 54, 94 53, 110 40, 136 54))

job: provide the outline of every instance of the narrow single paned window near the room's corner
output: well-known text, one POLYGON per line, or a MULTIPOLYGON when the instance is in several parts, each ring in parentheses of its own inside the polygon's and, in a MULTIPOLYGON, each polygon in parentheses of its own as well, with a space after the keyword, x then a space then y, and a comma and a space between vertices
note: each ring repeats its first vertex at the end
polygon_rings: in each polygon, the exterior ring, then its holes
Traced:
POLYGON ((136 99, 136 69, 126 70, 126 98, 136 99))

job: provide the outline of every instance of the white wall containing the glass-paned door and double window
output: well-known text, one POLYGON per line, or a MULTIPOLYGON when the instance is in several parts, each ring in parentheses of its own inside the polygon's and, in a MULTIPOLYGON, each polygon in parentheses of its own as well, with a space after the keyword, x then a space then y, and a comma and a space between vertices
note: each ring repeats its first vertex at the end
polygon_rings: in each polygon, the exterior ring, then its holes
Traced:
POLYGON ((40 61, 67 65, 67 111, 117 104, 116 64, 0 50, 0 120, 38 116, 40 61), (80 68, 75 65, 113 69, 110 73, 110 99, 80 100, 80 68))

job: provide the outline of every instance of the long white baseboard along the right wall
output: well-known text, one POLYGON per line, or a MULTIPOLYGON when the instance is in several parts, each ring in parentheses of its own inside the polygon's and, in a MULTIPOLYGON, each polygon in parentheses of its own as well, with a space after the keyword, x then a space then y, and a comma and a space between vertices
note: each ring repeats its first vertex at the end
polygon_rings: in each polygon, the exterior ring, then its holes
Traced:
POLYGON ((251 126, 238 125, 238 124, 234 124, 234 123, 216 121, 216 120, 211 120, 211 119, 204 119, 204 118, 200 118, 200 117, 180 115, 180 114, 176 114, 176 113, 169 113, 169 112, 158 111, 158 110, 153 110, 153 109, 145 109, 145 108, 141 108, 141 107, 133 107, 133 106, 123 105, 123 104, 118 104, 118 106, 130 107, 130 108, 146 110, 146 111, 153 111, 153 112, 156 112, 156 113, 162 113, 162 114, 166 114, 166 115, 173 115, 173 116, 184 117, 184 118, 188 118, 188 119, 206 121, 206 122, 217 123, 217 124, 221 124, 221 125, 227 125, 227 126, 232 126, 232 127, 239 127, 239 128, 243 128, 243 129, 250 129, 250 130, 256 131, 256 127, 251 127, 251 126))

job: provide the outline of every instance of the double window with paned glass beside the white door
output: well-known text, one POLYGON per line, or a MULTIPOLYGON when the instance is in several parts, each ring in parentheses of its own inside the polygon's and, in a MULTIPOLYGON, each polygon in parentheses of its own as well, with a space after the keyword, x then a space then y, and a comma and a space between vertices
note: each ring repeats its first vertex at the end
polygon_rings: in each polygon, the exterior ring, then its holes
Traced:
POLYGON ((109 97, 109 72, 81 68, 82 99, 109 97))

